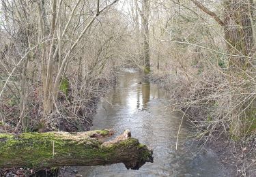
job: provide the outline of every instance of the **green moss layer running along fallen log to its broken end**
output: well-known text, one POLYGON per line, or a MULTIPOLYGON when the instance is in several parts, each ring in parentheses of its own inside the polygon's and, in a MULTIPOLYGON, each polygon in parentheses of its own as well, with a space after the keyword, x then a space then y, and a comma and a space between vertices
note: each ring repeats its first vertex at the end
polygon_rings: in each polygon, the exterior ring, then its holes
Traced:
POLYGON ((0 134, 0 166, 9 161, 16 166, 23 164, 34 168, 51 167, 55 165, 53 158, 58 161, 58 159, 66 160, 74 157, 83 163, 89 163, 93 159, 107 161, 115 159, 118 150, 130 148, 141 150, 141 159, 149 158, 150 152, 147 152, 147 147, 139 144, 137 139, 128 138, 118 143, 104 145, 94 138, 89 138, 94 133, 109 135, 108 130, 74 134, 63 132, 0 134))

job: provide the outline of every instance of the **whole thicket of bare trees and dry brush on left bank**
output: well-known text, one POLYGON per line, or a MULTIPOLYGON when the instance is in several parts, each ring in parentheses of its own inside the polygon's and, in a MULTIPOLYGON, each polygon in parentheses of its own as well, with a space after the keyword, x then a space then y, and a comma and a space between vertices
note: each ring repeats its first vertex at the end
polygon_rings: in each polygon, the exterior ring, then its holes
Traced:
POLYGON ((115 84, 125 24, 109 3, 1 1, 1 123, 10 131, 89 129, 115 84), (112 24, 112 25, 111 25, 112 24), (118 26, 117 26, 118 25, 118 26))

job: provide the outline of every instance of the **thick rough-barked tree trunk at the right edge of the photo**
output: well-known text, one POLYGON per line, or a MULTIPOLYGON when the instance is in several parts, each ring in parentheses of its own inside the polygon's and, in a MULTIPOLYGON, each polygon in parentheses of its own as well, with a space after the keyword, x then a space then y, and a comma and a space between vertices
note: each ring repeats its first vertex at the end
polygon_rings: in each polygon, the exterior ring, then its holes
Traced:
POLYGON ((225 0, 225 40, 229 57, 229 85, 231 88, 231 133, 236 138, 245 135, 254 122, 250 73, 253 69, 253 1, 225 0), (243 56, 243 57, 233 57, 243 56), (244 84, 247 82, 246 84, 244 84))

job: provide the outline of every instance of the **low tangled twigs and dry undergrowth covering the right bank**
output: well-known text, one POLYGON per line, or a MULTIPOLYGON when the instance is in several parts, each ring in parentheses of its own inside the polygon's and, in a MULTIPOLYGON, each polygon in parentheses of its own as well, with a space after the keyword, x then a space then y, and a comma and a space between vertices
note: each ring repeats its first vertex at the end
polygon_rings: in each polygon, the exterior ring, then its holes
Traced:
MULTIPOLYGON (((198 69, 200 70, 200 69, 198 69)), ((199 150, 209 148, 218 154, 220 161, 234 176, 255 174, 256 131, 252 113, 246 133, 240 137, 231 133, 231 112, 244 101, 254 97, 253 80, 238 80, 230 86, 227 73, 205 67, 203 71, 184 74, 169 74, 155 71, 150 80, 171 94, 173 107, 182 110, 187 123, 193 129, 195 144, 199 150), (191 74, 191 75, 190 75, 191 74), (188 78, 187 78, 188 76, 188 78), (241 85, 246 85, 242 93, 241 85), (231 103, 234 91, 240 91, 238 99, 231 103)), ((251 103, 253 104, 253 103, 251 103)), ((241 110, 243 114, 246 108, 241 110)))

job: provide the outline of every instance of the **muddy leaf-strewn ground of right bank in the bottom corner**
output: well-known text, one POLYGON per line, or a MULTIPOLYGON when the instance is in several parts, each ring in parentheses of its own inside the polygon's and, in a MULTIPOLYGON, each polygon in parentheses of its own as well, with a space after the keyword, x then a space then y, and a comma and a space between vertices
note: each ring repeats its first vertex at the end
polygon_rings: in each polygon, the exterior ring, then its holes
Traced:
POLYGON ((255 135, 251 135, 247 140, 240 142, 234 142, 225 136, 215 136, 204 146, 218 155, 220 162, 229 172, 229 176, 255 176, 255 135))

